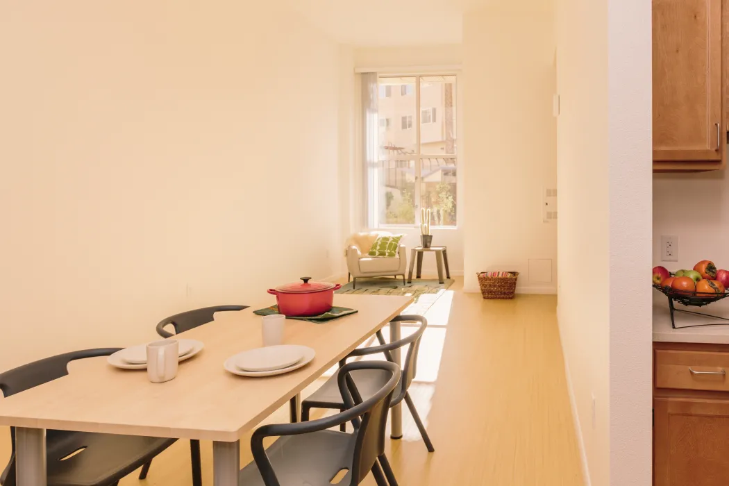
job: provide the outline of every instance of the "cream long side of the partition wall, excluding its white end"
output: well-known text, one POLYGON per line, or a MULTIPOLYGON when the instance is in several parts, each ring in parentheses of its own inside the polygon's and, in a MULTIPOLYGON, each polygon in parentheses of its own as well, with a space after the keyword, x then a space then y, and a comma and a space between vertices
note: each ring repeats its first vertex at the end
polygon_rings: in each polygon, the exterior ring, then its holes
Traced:
POLYGON ((583 466, 589 467, 592 486, 607 486, 607 3, 582 9, 580 4, 561 0, 557 11, 558 320, 583 466))

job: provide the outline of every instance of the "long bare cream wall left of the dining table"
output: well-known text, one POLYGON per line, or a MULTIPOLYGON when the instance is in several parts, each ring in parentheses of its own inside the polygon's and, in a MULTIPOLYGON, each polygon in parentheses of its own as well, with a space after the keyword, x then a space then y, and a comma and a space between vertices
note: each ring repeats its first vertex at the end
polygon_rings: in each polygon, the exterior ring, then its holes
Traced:
POLYGON ((245 2, 2 4, 0 369, 340 273, 341 63, 245 2))

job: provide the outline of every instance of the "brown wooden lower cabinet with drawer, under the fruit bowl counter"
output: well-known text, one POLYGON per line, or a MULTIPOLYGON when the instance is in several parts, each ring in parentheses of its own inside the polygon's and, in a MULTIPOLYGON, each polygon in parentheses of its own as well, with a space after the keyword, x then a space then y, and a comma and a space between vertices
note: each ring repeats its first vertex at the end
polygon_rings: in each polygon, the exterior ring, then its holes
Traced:
POLYGON ((653 350, 653 485, 729 486, 729 345, 653 350))

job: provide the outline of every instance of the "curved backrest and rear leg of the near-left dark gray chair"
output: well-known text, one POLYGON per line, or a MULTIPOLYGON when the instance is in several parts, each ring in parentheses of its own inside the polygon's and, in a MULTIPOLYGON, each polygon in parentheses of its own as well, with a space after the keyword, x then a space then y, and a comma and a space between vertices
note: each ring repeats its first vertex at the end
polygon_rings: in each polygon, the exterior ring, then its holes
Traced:
MULTIPOLYGON (((0 391, 6 397, 26 391, 29 388, 48 383, 69 374, 71 361, 95 356, 109 356, 121 348, 97 348, 71 351, 50 358, 39 359, 23 366, 0 373, 0 391)), ((7 466, 0 474, 0 485, 15 486, 15 427, 10 428, 11 455, 7 466)))

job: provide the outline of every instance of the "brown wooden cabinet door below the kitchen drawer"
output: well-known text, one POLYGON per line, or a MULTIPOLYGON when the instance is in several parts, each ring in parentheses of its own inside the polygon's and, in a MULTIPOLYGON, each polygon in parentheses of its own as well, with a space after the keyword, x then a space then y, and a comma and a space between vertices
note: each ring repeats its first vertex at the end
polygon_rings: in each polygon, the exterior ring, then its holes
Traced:
POLYGON ((653 484, 729 484, 729 401, 654 399, 653 484))

